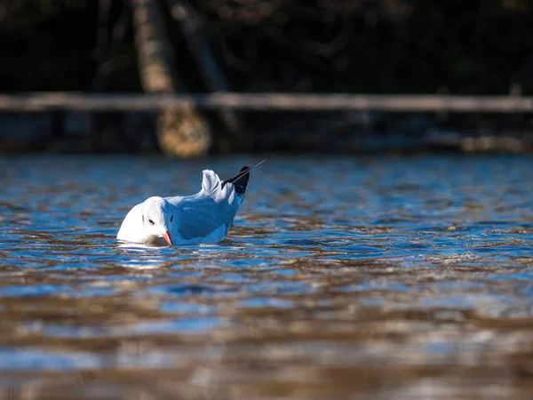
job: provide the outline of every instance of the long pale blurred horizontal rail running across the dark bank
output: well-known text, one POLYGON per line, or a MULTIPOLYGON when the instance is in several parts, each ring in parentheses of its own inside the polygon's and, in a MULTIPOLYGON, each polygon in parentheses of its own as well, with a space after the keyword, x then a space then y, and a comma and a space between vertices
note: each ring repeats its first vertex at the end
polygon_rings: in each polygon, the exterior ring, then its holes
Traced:
POLYGON ((533 98, 521 96, 374 95, 303 93, 130 94, 31 92, 0 94, 0 112, 155 111, 162 108, 231 108, 255 111, 489 112, 528 113, 533 98))

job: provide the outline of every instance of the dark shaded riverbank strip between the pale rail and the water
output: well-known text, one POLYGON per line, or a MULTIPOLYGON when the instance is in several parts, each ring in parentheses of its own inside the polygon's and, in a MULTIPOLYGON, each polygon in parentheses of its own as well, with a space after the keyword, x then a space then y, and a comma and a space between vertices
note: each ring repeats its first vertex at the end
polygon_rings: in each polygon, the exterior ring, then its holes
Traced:
MULTIPOLYGON (((490 151, 533 152, 531 117, 393 114, 382 112, 243 112, 235 143, 214 127, 212 154, 231 151, 321 153, 490 151)), ((0 153, 159 152, 151 112, 0 115, 0 153)))

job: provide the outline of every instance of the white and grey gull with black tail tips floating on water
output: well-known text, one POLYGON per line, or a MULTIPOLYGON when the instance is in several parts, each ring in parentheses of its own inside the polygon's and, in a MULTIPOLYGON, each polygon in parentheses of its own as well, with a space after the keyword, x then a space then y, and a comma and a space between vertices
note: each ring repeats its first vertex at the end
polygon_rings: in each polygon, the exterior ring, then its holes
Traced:
POLYGON ((191 196, 148 197, 126 215, 116 235, 121 242, 158 245, 214 244, 227 236, 243 204, 251 167, 228 180, 203 170, 202 189, 191 196))

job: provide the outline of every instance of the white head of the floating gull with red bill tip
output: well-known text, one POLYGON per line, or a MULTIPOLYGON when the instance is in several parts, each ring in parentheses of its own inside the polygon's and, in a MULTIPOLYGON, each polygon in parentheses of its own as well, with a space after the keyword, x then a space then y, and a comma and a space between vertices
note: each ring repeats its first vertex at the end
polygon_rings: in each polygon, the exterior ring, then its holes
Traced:
POLYGON ((167 244, 172 245, 170 231, 175 222, 172 204, 163 197, 148 197, 140 210, 147 231, 153 236, 163 237, 167 244))

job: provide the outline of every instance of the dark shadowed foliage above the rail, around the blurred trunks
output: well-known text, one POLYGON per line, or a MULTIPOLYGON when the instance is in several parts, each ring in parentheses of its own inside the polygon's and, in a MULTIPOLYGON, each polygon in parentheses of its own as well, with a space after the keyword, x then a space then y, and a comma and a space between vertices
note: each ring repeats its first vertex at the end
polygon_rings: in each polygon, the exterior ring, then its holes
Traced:
MULTIPOLYGON (((88 90, 96 0, 0 2, 2 91, 88 90)), ((112 0, 112 28, 127 7, 112 0)), ((161 0, 165 10, 172 0, 161 0)), ((126 5, 124 5, 126 4, 126 5)), ((527 0, 196 0, 211 45, 241 91, 533 92, 527 0)), ((167 12, 177 65, 203 90, 167 12)), ((108 90, 139 91, 131 29, 108 90)))

